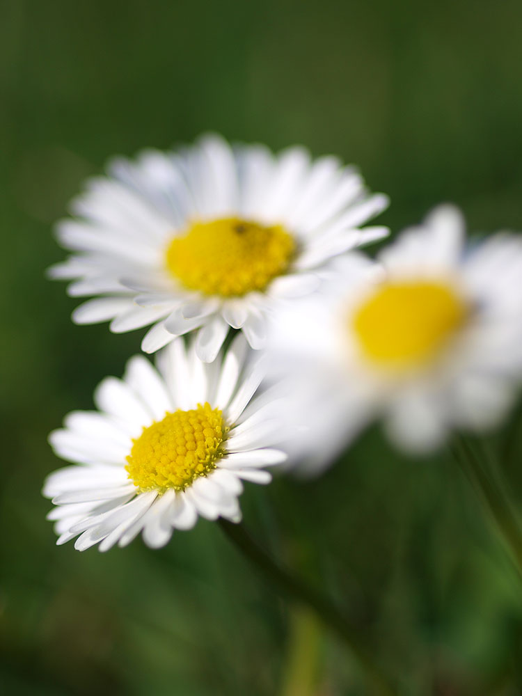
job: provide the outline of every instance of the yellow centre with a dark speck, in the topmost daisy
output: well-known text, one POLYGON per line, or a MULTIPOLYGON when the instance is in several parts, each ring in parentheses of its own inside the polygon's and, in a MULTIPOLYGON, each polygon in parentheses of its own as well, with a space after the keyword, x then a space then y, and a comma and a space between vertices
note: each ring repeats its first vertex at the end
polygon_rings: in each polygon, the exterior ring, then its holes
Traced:
POLYGON ((193 223, 186 235, 172 240, 166 262, 189 290, 232 297, 265 290, 285 273, 294 250, 294 239, 282 226, 231 217, 193 223))

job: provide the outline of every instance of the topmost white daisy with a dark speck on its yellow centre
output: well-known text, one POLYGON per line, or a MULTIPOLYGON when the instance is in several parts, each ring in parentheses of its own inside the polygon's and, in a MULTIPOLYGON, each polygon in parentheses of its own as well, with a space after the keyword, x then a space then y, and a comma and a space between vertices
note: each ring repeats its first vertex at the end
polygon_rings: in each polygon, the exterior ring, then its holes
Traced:
POLYGON ((111 331, 152 324, 151 353, 198 330, 196 351, 216 357, 228 327, 262 347, 265 317, 280 299, 312 292, 329 260, 380 239, 359 227, 388 205, 353 167, 311 161, 303 148, 273 155, 205 136, 191 148, 118 158, 109 177, 88 182, 58 224, 72 251, 50 269, 73 279, 72 296, 95 295, 72 318, 111 319, 111 331))

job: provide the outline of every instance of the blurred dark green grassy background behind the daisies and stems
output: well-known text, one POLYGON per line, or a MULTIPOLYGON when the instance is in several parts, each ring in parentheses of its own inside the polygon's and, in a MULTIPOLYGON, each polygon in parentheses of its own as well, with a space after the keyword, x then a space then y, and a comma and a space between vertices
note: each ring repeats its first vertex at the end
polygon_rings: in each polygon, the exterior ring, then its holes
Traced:
MULTIPOLYGON (((355 162, 394 230, 441 200, 473 230, 522 230, 521 30, 519 0, 0 2, 1 693, 374 693, 215 524, 161 551, 54 546, 47 433, 143 331, 70 322, 77 301, 44 277, 64 258, 52 224, 109 156, 212 129, 355 162)), ((521 419, 487 443, 519 506, 521 419)), ((519 578, 449 457, 405 459, 376 428, 320 480, 242 504, 347 607, 401 696, 522 693, 519 578)))

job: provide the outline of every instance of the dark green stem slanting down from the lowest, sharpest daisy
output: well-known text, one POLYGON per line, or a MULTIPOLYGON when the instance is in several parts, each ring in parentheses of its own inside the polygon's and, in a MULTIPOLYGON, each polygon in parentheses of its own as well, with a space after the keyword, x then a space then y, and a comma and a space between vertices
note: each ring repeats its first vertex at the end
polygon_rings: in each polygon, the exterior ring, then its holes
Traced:
POLYGON ((395 688, 383 677, 381 671, 374 664, 370 652, 361 646, 358 630, 350 626, 349 621, 343 616, 342 611, 316 592, 312 587, 301 583, 292 573, 272 559, 259 544, 252 539, 244 527, 220 519, 219 525, 226 536, 248 560, 255 565, 266 578, 269 578, 282 594, 301 602, 316 612, 318 617, 331 628, 334 633, 344 640, 354 653, 358 661, 363 665, 367 674, 372 677, 377 692, 382 696, 396 695, 395 688))

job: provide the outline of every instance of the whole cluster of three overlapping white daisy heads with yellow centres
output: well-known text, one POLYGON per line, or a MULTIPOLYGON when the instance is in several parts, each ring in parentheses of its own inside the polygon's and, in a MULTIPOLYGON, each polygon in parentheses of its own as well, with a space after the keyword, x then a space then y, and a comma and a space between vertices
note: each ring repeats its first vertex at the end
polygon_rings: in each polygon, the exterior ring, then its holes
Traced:
POLYGON ((503 418, 522 378, 522 237, 440 206, 371 259, 388 205, 303 148, 204 136, 114 159, 58 225, 77 324, 148 327, 122 379, 50 436, 58 544, 166 544, 241 519, 244 481, 318 473, 371 420, 413 453, 503 418))

